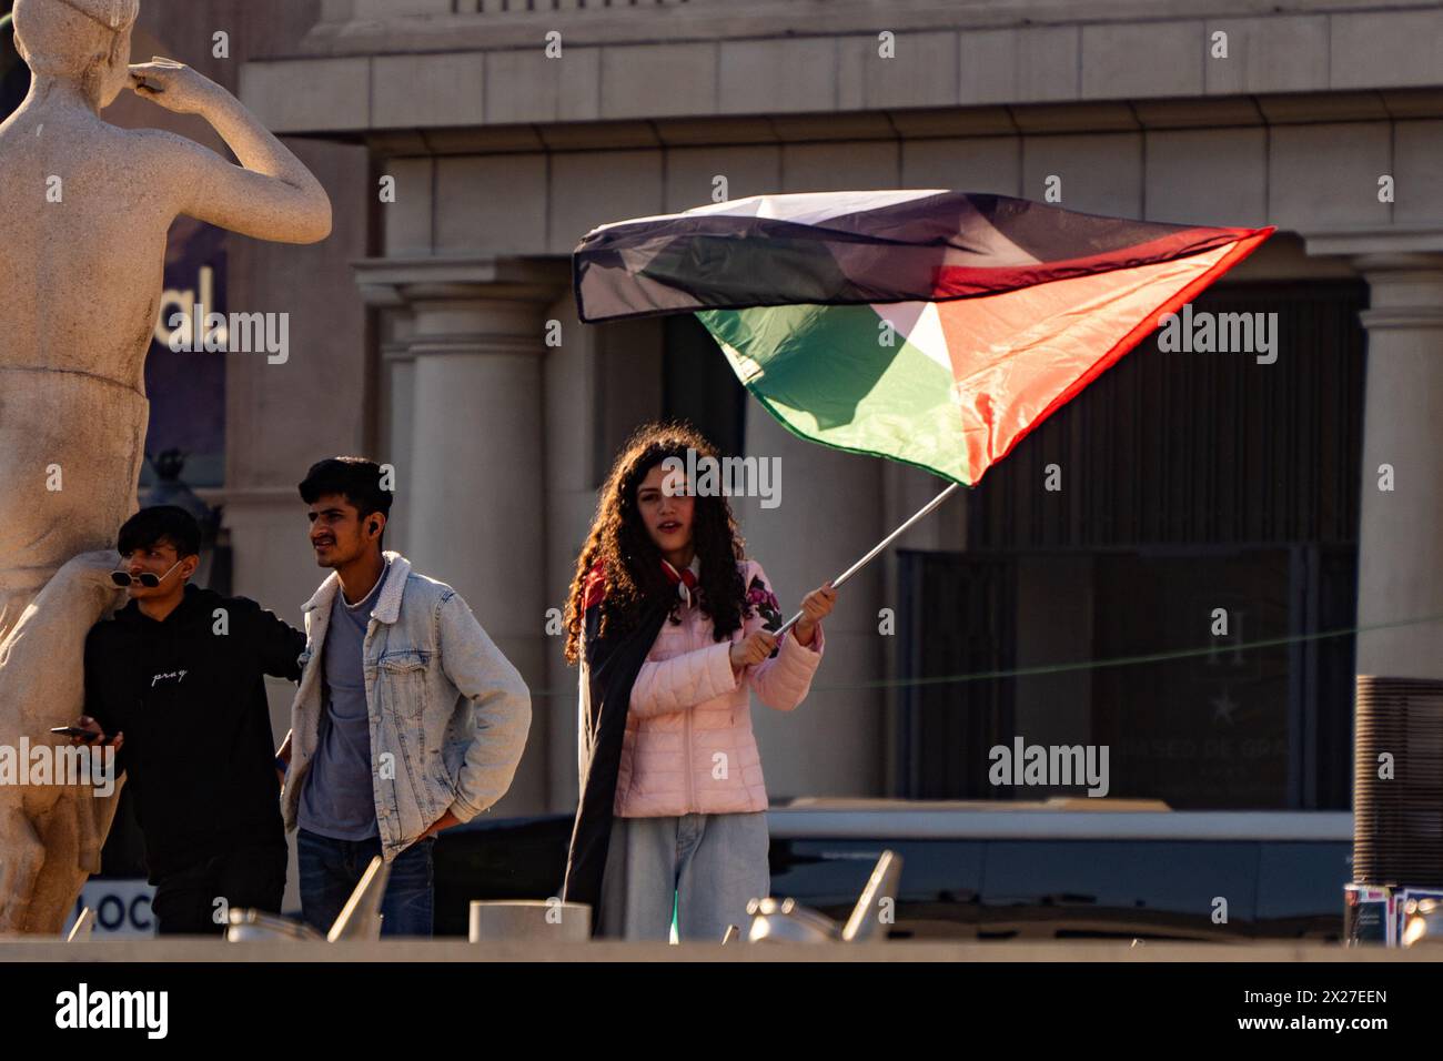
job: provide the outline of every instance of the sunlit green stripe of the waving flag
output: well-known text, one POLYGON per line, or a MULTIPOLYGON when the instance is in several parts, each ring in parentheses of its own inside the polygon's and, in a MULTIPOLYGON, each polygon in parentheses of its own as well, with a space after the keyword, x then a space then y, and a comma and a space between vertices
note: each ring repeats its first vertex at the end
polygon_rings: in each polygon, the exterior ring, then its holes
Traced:
POLYGON ((885 456, 965 486, 952 374, 898 333, 879 342, 870 306, 701 310, 737 378, 794 435, 885 456))

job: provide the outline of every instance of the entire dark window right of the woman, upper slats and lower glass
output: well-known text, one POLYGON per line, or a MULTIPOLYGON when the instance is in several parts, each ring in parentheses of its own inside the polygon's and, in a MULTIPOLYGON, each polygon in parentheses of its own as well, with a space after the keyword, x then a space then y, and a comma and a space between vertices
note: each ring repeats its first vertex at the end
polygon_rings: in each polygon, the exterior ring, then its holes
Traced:
POLYGON ((965 553, 899 554, 899 795, 1081 794, 993 785, 1020 736, 1107 745, 1108 795, 1349 807, 1365 296, 1209 290, 1278 315, 1274 364, 1149 338, 968 495, 965 553))

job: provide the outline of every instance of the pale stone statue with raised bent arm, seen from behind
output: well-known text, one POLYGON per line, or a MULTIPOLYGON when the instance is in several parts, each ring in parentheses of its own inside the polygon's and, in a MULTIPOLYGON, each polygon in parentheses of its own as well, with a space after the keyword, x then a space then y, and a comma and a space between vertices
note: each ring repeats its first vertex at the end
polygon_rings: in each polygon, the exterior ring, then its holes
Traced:
MULTIPOLYGON (((130 65, 139 9, 14 6, 33 79, 0 124, 0 746, 65 743, 49 729, 82 713, 85 634, 123 601, 107 572, 136 511, 170 224, 330 232, 325 189, 225 88, 170 59, 130 65), (241 165, 107 124, 126 89, 199 114, 241 165)), ((0 933, 61 931, 114 816, 94 791, 0 784, 0 933)))

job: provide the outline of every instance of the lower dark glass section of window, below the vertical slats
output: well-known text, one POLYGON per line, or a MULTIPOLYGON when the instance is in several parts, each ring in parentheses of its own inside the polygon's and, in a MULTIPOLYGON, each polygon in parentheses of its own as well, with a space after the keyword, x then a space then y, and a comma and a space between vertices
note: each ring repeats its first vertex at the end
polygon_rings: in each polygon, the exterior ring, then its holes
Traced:
POLYGON ((898 794, 1087 791, 994 785, 991 749, 1020 738, 1107 748, 1111 797, 1346 810, 1355 564, 1343 546, 902 551, 898 794))

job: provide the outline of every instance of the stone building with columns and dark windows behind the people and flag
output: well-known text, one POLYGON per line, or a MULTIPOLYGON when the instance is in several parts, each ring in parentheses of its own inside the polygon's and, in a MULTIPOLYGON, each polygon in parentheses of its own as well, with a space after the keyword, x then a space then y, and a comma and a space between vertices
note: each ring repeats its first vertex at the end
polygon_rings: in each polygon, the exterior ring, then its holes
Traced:
MULTIPOLYGON (((723 183, 1049 182, 1075 211, 1277 225, 1199 300, 1276 312, 1276 364, 1146 342, 850 583, 805 709, 755 717, 773 797, 1032 798, 987 782, 1020 735, 1108 745, 1113 795, 1348 808, 1354 674, 1443 677, 1436 624, 1315 637, 1443 612, 1440 45, 1437 4, 1369 0, 144 0, 137 61, 235 91, 336 222, 317 247, 177 225, 167 287, 290 313, 291 355, 157 352, 152 452, 192 455, 232 589, 296 624, 323 573, 296 482, 394 465, 388 546, 535 690, 495 813, 564 810, 576 678, 548 609, 636 424, 782 458, 781 507, 737 511, 788 608, 944 485, 792 437, 690 319, 580 325, 590 228, 723 183)), ((136 98, 107 117, 224 150, 136 98)), ((287 709, 277 686, 277 738, 287 709)))

